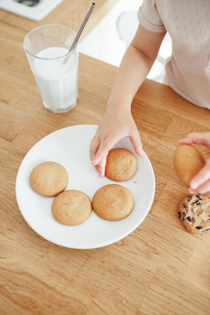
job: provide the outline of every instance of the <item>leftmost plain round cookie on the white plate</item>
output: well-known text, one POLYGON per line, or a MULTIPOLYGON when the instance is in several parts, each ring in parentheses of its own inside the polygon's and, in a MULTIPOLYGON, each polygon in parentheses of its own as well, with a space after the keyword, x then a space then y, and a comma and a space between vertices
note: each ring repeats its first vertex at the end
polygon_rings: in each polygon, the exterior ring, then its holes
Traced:
POLYGON ((67 186, 68 173, 56 162, 38 164, 30 174, 31 188, 39 195, 53 197, 67 186))

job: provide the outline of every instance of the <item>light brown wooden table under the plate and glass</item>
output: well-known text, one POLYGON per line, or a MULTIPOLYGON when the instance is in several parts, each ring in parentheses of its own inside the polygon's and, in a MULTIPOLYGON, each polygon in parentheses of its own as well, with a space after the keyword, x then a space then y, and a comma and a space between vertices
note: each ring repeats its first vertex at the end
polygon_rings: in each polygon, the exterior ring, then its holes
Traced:
MULTIPOLYGON (((210 233, 192 235, 182 227, 177 207, 187 190, 174 172, 172 157, 179 138, 209 130, 210 112, 169 87, 146 80, 133 100, 156 192, 147 217, 132 233, 107 247, 68 249, 40 237, 19 211, 15 181, 25 154, 52 131, 99 124, 117 70, 81 54, 77 107, 65 114, 44 109, 22 42, 40 24, 77 29, 89 3, 68 4, 64 0, 41 22, 0 11, 0 313, 209 314, 210 233)), ((96 4, 93 24, 111 1, 96 4)))

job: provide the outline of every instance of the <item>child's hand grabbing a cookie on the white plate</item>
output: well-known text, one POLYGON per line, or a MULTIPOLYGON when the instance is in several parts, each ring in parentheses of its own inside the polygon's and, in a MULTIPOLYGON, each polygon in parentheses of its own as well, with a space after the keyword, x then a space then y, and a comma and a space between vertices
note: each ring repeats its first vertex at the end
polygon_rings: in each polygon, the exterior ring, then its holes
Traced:
POLYGON ((90 144, 91 163, 99 172, 99 177, 105 175, 108 151, 124 137, 130 138, 137 154, 144 155, 142 141, 130 112, 107 110, 90 144))

